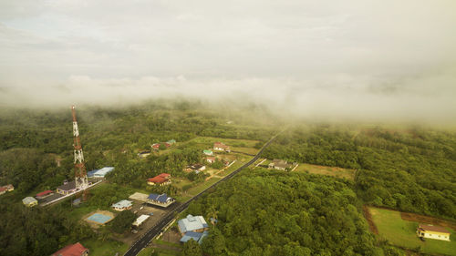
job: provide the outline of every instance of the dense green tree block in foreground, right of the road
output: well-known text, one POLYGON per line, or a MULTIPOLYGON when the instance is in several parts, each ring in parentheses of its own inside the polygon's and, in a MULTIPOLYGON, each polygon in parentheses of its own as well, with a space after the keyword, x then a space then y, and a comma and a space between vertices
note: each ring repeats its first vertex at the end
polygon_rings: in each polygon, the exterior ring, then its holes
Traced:
POLYGON ((383 255, 352 186, 324 176, 249 170, 193 202, 187 213, 218 220, 202 241, 204 255, 383 255))

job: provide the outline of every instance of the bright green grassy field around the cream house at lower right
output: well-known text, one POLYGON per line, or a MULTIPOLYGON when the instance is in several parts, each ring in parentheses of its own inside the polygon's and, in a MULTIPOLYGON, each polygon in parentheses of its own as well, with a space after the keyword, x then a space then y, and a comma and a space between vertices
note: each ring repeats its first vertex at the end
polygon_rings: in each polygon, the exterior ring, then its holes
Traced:
POLYGON ((456 255, 456 233, 451 230, 451 241, 437 241, 426 239, 420 241, 415 233, 418 222, 402 220, 400 212, 396 210, 384 210, 369 208, 372 220, 378 229, 378 235, 390 243, 409 249, 418 249, 426 253, 439 253, 444 255, 456 255))

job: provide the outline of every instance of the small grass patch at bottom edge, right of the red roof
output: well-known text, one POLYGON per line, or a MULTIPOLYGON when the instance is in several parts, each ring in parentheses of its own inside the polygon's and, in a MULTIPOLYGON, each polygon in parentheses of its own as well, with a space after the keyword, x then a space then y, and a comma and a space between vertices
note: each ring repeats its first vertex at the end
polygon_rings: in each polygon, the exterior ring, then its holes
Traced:
POLYGON ((129 250, 129 245, 120 241, 91 239, 81 243, 90 250, 90 256, 115 255, 116 252, 122 255, 129 250))

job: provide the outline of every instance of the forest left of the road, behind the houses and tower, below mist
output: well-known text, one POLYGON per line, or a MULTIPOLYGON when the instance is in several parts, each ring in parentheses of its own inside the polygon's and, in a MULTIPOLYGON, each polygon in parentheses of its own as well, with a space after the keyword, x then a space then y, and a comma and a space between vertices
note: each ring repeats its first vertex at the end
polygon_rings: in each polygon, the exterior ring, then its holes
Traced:
MULTIPOLYGON (((249 110, 250 111, 250 110, 249 110)), ((201 158, 192 145, 174 146, 170 156, 140 160, 150 145, 175 139, 181 144, 197 136, 262 139, 274 127, 248 125, 254 114, 224 112, 198 101, 151 101, 125 108, 77 108, 79 131, 88 170, 115 166, 110 176, 119 184, 142 187, 145 179, 181 169, 201 158), (228 120, 235 125, 228 125, 228 120), (197 156, 198 155, 198 156, 197 156)), ((253 109, 252 111, 255 111, 253 109)), ((255 113, 255 112, 253 112, 255 113)), ((0 185, 12 183, 23 195, 55 189, 74 176, 70 108, 0 109, 0 185), (57 167, 57 161, 60 167, 57 167)), ((189 177, 192 180, 202 177, 189 177)))

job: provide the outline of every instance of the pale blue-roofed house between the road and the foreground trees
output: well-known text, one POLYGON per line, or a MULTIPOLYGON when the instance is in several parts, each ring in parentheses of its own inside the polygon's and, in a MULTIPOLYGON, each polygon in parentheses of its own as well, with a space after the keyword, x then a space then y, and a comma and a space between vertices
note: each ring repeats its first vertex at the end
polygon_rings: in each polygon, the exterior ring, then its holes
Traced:
POLYGON ((202 243, 202 239, 208 235, 209 225, 202 216, 189 214, 185 219, 179 220, 177 224, 182 235, 181 242, 192 239, 202 243))

